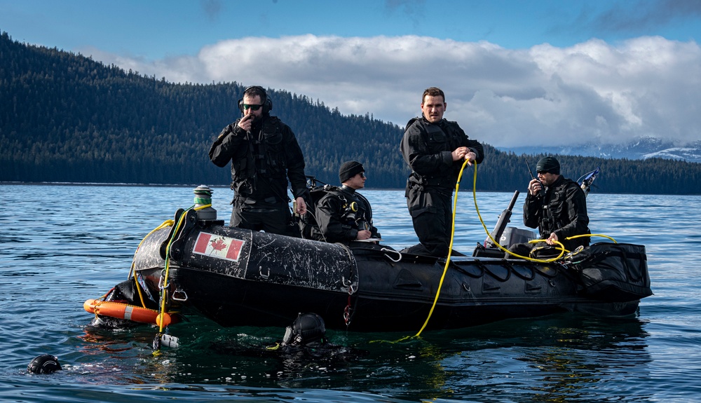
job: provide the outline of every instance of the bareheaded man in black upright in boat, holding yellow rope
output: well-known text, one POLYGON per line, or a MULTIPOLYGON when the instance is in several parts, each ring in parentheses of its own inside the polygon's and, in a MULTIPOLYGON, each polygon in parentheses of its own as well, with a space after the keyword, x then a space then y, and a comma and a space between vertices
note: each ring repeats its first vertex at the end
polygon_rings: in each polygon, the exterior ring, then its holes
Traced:
POLYGON ((463 160, 472 165, 484 158, 482 144, 468 139, 458 123, 443 118, 446 107, 443 91, 428 88, 421 98, 422 116, 412 118, 404 130, 401 151, 411 168, 404 196, 421 242, 402 251, 405 253, 448 256, 450 200, 463 160))

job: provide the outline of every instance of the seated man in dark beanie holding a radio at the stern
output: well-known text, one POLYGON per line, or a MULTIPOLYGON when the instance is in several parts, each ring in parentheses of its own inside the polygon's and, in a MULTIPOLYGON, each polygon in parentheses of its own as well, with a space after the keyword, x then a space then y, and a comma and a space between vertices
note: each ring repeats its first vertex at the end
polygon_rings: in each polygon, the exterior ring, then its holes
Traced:
MULTIPOLYGON (((538 179, 531 179, 528 184, 524 202, 524 225, 529 228, 538 227, 540 239, 544 239, 547 245, 556 245, 557 241, 569 251, 589 245, 588 236, 565 239, 591 233, 588 227, 587 196, 580 185, 560 175, 560 163, 554 157, 540 158, 536 172, 538 179)), ((509 250, 528 256, 536 246, 538 244, 517 243, 509 250)), ((550 252, 555 251, 550 249, 550 252)))

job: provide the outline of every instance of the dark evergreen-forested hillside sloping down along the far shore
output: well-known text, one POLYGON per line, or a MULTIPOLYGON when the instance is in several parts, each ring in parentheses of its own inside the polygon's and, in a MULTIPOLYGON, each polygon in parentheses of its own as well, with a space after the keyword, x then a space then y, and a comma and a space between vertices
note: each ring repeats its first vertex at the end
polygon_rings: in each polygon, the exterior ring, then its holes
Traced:
MULTIPOLYGON (((210 163, 207 151, 240 114, 243 90, 236 82, 169 83, 2 33, 0 182, 228 184, 229 169, 210 163)), ((365 165, 369 187, 404 186, 409 171, 399 153, 403 128, 370 115, 344 116, 320 100, 284 90, 269 95, 272 114, 297 135, 307 175, 335 183, 340 163, 354 159, 365 165)), ((488 144, 485 149, 477 188, 523 190, 530 179, 526 158, 535 169, 540 156, 517 156, 488 144)), ((701 193, 697 163, 559 159, 572 179, 600 166, 594 191, 701 193)), ((471 189, 471 180, 470 169, 461 189, 471 189)))

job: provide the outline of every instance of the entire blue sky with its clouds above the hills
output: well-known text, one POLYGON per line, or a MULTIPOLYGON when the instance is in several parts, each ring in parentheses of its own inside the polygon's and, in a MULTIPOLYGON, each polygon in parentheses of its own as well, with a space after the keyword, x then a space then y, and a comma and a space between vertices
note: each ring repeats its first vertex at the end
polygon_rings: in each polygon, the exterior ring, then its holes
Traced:
POLYGON ((445 118, 504 148, 701 139, 698 0, 0 0, 0 31, 401 127, 437 86, 445 118))

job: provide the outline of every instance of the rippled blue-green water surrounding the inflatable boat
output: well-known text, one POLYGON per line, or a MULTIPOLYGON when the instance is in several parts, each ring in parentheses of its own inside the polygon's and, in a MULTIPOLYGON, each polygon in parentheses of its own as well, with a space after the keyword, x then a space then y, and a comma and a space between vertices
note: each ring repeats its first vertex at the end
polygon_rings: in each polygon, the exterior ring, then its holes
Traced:
MULTIPOLYGON (((589 196, 593 233, 647 247, 654 296, 637 317, 562 315, 446 332, 329 331, 362 354, 283 360, 256 353, 283 329, 222 329, 191 317, 182 346, 154 356, 155 328, 88 327, 83 301, 127 278, 144 235, 191 188, 3 185, 0 209, 0 401, 697 402, 701 399, 699 196, 589 196), (410 335, 410 334, 409 334, 410 335), (37 355, 64 370, 26 373, 37 355)), ((461 188, 462 189, 462 188, 461 188)), ((365 191, 386 243, 416 242, 402 191, 365 191)), ((478 193, 489 231, 512 193, 478 193)), ((229 189, 214 207, 228 221, 229 189)), ((519 198, 517 210, 522 205, 519 198)), ((456 249, 485 238, 472 193, 458 197, 456 249)), ((522 227, 520 214, 512 225, 522 227)), ((417 329, 418 330, 418 329, 417 329)))

